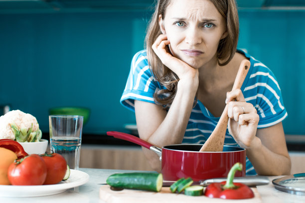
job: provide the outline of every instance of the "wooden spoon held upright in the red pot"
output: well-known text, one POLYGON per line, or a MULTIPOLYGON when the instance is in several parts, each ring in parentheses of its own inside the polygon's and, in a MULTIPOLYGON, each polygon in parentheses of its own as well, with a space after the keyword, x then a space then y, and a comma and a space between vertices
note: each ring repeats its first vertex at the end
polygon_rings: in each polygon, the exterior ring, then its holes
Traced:
MULTIPOLYGON (((250 61, 247 59, 244 59, 239 66, 237 76, 234 81, 234 85, 232 90, 240 89, 241 86, 244 83, 244 80, 247 76, 247 73, 250 68, 250 61)), ((226 130, 228 126, 228 104, 226 104, 225 109, 223 110, 219 121, 213 130, 212 134, 210 137, 206 140, 206 142, 203 144, 201 149, 199 150, 200 152, 221 152, 223 149, 224 145, 224 138, 226 135, 226 130)))

